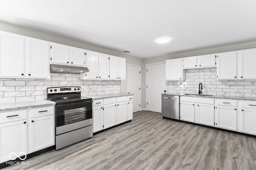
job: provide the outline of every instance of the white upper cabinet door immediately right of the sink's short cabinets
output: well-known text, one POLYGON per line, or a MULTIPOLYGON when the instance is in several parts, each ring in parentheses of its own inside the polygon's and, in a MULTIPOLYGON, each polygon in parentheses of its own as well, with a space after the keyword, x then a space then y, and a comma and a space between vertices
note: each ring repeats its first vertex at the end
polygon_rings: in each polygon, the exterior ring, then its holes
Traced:
POLYGON ((236 52, 220 53, 217 55, 217 79, 237 79, 236 52))

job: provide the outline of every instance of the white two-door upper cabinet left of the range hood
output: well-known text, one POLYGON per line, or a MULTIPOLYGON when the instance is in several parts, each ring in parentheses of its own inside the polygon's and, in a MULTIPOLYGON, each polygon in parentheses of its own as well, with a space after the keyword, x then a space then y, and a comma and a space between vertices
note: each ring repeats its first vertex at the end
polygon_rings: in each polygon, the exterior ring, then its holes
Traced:
POLYGON ((0 77, 50 78, 48 41, 0 31, 0 51, 0 77))

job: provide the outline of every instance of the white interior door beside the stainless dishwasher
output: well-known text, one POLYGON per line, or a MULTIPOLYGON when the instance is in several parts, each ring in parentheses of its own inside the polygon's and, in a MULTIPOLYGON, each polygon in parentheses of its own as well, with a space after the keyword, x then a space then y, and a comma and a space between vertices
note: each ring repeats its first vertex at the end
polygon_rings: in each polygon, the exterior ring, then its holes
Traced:
POLYGON ((147 110, 162 112, 161 94, 167 90, 165 64, 147 66, 147 110))

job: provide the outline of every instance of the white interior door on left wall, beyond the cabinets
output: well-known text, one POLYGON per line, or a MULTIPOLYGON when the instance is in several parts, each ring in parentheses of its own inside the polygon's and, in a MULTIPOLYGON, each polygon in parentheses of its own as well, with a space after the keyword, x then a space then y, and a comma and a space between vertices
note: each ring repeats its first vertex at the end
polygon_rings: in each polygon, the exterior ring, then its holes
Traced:
POLYGON ((127 66, 127 92, 133 95, 133 112, 140 111, 140 66, 127 66))

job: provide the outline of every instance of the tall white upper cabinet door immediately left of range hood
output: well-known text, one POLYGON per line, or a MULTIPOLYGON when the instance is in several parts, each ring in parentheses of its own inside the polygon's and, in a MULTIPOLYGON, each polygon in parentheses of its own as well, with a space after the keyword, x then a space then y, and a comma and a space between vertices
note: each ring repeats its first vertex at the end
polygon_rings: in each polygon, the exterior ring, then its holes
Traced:
POLYGON ((49 42, 26 38, 27 64, 26 76, 29 78, 50 78, 49 42))

